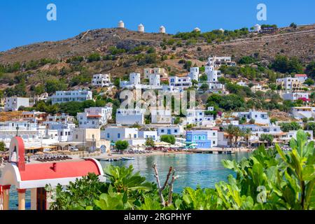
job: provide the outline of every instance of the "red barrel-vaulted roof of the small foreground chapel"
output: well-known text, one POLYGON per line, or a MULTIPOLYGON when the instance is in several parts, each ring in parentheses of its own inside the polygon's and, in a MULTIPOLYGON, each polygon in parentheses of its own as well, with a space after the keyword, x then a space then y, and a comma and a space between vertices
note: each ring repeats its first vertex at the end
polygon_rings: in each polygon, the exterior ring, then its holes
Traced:
POLYGON ((20 170, 21 179, 33 181, 87 176, 89 173, 101 174, 97 163, 93 160, 56 162, 56 172, 52 169, 52 165, 52 162, 25 165, 25 171, 20 170))

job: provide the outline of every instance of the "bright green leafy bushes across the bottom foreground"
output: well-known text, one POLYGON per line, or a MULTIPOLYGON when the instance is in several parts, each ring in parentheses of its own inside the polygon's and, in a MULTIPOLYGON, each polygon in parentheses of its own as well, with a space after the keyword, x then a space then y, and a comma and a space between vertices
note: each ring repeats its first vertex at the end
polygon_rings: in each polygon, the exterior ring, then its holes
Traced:
MULTIPOLYGON (((269 150, 260 146, 248 159, 223 160, 236 177, 228 176, 228 182, 215 188, 186 188, 172 196, 169 207, 161 206, 156 184, 132 167, 110 166, 105 169, 106 183, 90 174, 66 190, 57 186, 51 209, 315 209, 314 142, 307 143, 307 134, 300 130, 290 148, 284 153, 278 145, 269 150)), ((163 194, 167 197, 168 189, 163 194)))

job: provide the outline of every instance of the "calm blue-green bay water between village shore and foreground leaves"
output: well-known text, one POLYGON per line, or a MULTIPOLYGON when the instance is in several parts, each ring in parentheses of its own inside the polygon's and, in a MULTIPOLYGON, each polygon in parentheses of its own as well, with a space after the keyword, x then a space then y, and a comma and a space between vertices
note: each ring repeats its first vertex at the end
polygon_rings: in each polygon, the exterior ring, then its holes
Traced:
MULTIPOLYGON (((241 160, 248 158, 248 153, 236 153, 234 155, 215 155, 215 154, 188 154, 188 155, 152 155, 137 157, 136 160, 101 162, 102 167, 108 165, 127 166, 132 165, 135 172, 140 172, 148 181, 155 182, 153 172, 153 163, 158 166, 158 172, 161 183, 164 183, 169 167, 176 169, 179 179, 174 184, 174 191, 179 193, 183 188, 196 188, 200 185, 202 188, 214 188, 215 183, 226 181, 229 174, 234 174, 229 169, 225 169, 221 160, 241 160)), ((1 170, 0 170, 1 176, 1 170)), ((30 202, 31 194, 27 190, 26 201, 30 202)), ((18 193, 15 188, 10 189, 10 209, 18 209, 18 193)))

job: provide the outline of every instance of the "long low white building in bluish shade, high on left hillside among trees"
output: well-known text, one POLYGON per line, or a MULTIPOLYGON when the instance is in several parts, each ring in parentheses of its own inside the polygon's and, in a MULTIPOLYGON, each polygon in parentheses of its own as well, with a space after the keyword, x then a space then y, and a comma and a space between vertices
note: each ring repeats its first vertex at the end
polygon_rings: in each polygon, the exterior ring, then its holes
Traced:
POLYGON ((50 97, 53 104, 62 104, 66 102, 84 102, 92 100, 92 92, 89 90, 57 91, 50 97))

